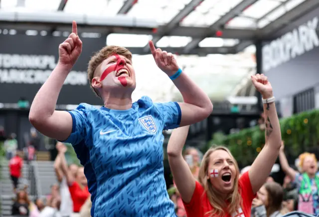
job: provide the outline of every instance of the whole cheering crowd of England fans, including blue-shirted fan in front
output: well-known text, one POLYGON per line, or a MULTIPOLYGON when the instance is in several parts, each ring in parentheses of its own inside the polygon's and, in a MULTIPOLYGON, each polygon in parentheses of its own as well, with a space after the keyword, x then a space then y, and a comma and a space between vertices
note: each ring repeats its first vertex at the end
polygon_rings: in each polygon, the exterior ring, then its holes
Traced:
POLYGON ((33 100, 29 120, 43 135, 71 143, 84 168, 66 164, 66 148, 59 142, 54 163, 59 185, 52 186, 45 206, 28 202, 26 192, 17 191, 12 211, 18 207, 24 215, 32 212, 38 217, 172 217, 176 213, 179 217, 281 217, 295 210, 297 203, 299 211, 318 214, 317 160, 304 153, 300 172, 289 167, 267 77, 251 76, 262 96, 265 121, 265 145, 253 164, 240 172, 225 146, 209 148, 199 161, 196 150, 187 149, 184 156, 182 152, 189 125, 211 114, 211 100, 182 72, 171 53, 152 41, 149 45, 155 63, 184 102, 154 103, 146 96, 133 102, 132 53, 106 46, 88 66, 91 88, 104 106, 81 103, 72 111, 56 111, 63 83, 82 51, 73 21, 72 33, 59 46, 57 66, 33 100), (176 188, 171 198, 163 176, 162 131, 168 129, 174 129, 167 145, 176 188), (287 174, 284 187, 269 177, 278 156, 287 174), (297 193, 290 189, 293 184, 297 193))

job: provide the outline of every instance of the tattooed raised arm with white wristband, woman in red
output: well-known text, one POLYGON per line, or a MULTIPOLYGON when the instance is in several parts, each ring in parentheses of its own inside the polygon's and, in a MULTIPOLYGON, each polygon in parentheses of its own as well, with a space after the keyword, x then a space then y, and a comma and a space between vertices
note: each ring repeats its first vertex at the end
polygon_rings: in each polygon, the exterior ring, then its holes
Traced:
MULTIPOLYGON (((251 78, 255 88, 263 99, 271 101, 273 89, 267 77, 256 74, 251 78)), ((265 113, 265 146, 249 170, 249 178, 254 193, 264 185, 274 166, 281 147, 281 131, 275 102, 264 103, 265 113)))

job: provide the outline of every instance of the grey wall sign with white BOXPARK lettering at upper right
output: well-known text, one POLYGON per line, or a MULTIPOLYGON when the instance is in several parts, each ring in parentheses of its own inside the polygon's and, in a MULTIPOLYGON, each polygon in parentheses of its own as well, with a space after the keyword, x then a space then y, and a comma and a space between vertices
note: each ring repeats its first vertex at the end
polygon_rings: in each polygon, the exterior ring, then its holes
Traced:
POLYGON ((319 83, 319 9, 274 33, 263 46, 263 73, 277 98, 289 97, 319 83))

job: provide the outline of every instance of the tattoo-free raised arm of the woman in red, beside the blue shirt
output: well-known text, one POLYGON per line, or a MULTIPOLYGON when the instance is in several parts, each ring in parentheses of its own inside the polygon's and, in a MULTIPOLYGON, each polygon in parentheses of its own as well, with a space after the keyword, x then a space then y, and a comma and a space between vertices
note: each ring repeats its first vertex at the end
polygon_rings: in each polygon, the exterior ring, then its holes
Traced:
POLYGON ((167 145, 167 155, 170 171, 180 197, 189 203, 195 190, 195 178, 182 156, 182 150, 187 138, 189 126, 174 129, 167 145))

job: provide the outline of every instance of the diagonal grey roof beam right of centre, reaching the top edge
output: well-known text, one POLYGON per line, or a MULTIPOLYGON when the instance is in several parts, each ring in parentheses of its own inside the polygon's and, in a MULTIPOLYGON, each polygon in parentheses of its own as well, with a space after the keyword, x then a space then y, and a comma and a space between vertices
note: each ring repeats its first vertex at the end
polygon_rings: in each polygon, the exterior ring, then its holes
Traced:
MULTIPOLYGON (((206 37, 214 36, 215 32, 218 29, 224 27, 224 25, 235 16, 239 15, 243 10, 245 10, 248 6, 255 3, 257 0, 243 0, 239 4, 237 4, 234 8, 232 8, 228 13, 220 17, 215 23, 209 26, 208 30, 202 35, 200 38, 193 39, 185 46, 185 53, 189 53, 190 50, 198 46, 198 43, 206 37)), ((225 30, 225 29, 223 29, 225 30)))

